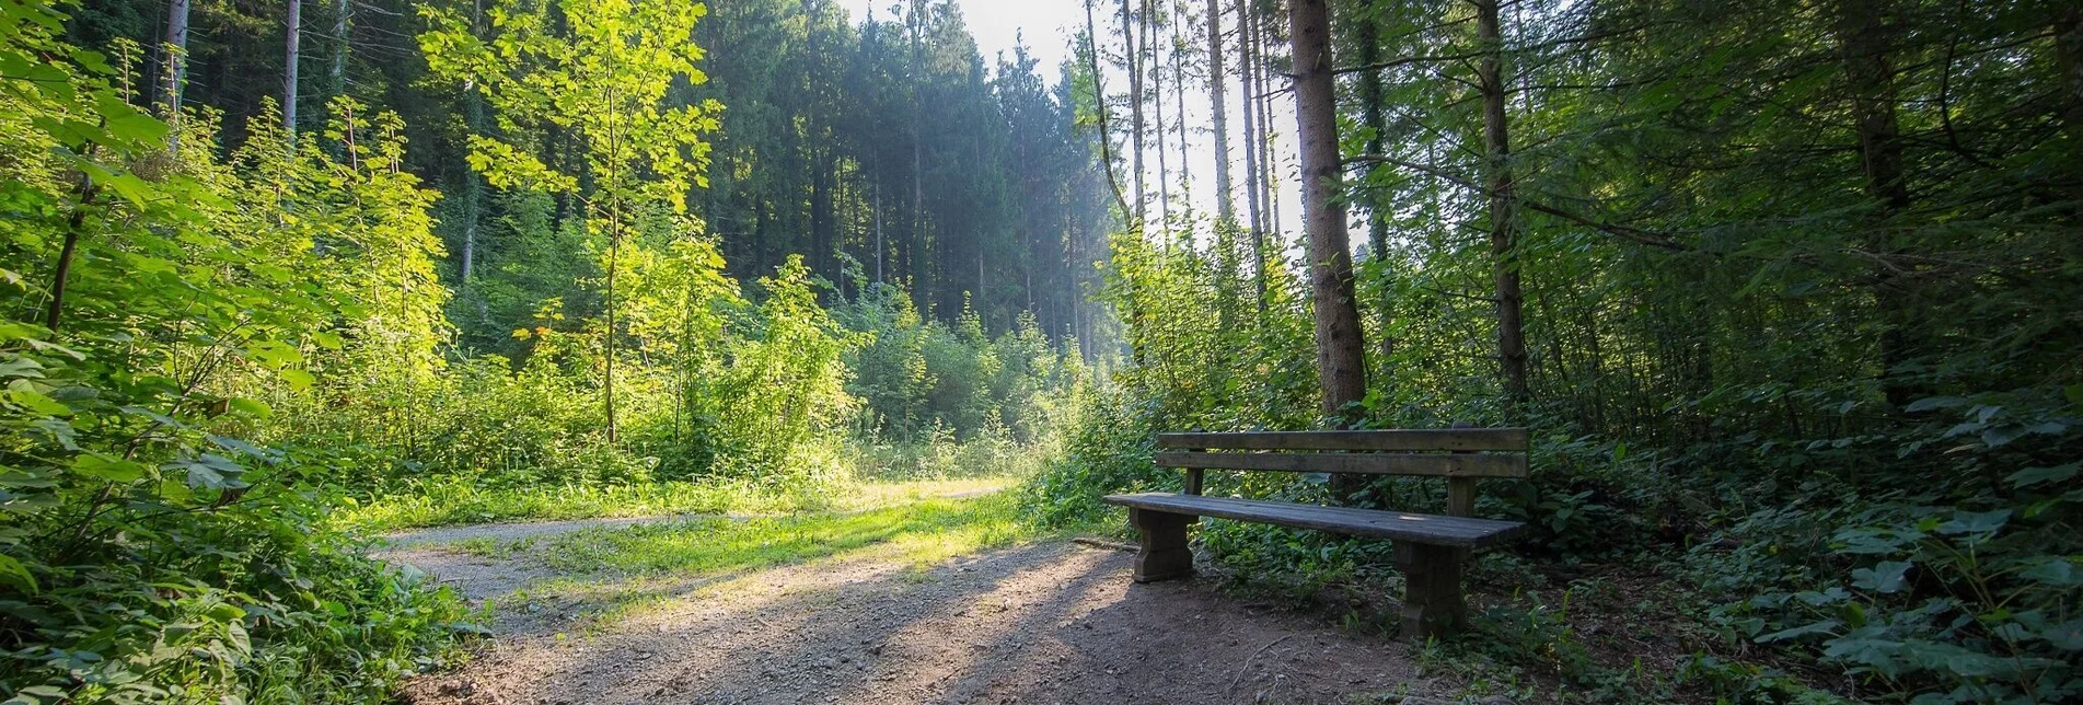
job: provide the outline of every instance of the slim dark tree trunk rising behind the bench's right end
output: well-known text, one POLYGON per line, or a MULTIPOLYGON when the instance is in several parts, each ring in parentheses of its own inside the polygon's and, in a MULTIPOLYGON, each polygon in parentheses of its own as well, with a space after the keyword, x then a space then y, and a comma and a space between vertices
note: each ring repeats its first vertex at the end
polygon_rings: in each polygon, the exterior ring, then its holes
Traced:
POLYGON ((1512 142, 1504 121, 1504 35, 1498 25, 1498 0, 1475 4, 1475 31, 1483 42, 1483 63, 1477 69, 1477 90, 1483 94, 1483 150, 1489 165, 1489 252, 1491 275, 1498 279, 1498 363, 1504 394, 1525 403, 1527 330, 1525 294, 1519 286, 1519 213, 1512 181, 1512 142))

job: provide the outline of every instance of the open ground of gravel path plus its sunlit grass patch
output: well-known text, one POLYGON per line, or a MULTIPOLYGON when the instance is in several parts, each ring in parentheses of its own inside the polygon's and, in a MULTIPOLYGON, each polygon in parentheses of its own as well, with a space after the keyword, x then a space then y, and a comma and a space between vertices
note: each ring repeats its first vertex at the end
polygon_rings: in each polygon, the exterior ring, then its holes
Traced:
POLYGON ((1131 553, 1029 534, 1017 513, 1008 496, 975 496, 406 534, 379 555, 487 605, 494 636, 402 701, 1477 701, 1421 676, 1402 642, 1210 580, 1133 584, 1131 553))

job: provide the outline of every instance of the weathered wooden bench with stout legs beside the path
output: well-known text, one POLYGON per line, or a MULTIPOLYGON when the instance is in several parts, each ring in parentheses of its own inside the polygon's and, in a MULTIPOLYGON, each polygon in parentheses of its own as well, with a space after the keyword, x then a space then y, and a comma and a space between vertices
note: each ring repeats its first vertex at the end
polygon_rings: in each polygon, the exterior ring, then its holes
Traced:
POLYGON ((1460 572, 1469 553, 1504 542, 1523 526, 1477 519, 1475 484, 1525 478, 1527 440, 1523 428, 1158 434, 1164 451, 1156 463, 1183 467, 1185 492, 1112 494, 1106 503, 1129 507, 1129 526, 1141 534, 1135 582, 1191 576, 1187 526, 1200 517, 1387 538, 1396 542, 1396 567, 1404 574, 1402 632, 1429 638, 1466 626, 1460 572), (1446 478, 1448 513, 1202 496, 1208 469, 1446 478))

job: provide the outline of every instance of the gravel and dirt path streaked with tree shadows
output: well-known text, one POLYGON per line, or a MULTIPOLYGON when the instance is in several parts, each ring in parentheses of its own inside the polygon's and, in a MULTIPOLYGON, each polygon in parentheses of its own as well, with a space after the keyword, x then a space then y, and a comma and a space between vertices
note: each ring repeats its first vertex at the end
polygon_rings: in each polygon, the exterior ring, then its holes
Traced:
MULTIPOLYGON (((527 557, 390 555, 494 599, 496 638, 406 703, 1439 703, 1404 645, 1219 597, 1139 586, 1131 555, 1064 540, 935 565, 860 551, 677 582, 598 586, 635 609, 589 624, 585 590, 527 557), (517 592, 521 590, 521 592, 517 592)), ((1479 701, 1479 699, 1469 699, 1479 701)), ((1479 701, 1502 703, 1502 701, 1479 701)))

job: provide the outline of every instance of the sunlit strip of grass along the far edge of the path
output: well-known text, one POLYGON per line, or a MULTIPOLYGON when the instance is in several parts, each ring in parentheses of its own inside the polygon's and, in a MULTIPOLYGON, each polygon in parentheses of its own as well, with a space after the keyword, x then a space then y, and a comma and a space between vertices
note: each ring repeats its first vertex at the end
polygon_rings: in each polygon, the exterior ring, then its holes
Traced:
POLYGON ((554 486, 487 490, 469 482, 427 482, 412 492, 350 503, 333 511, 337 526, 360 532, 406 528, 654 517, 681 513, 769 515, 794 511, 862 511, 929 496, 983 492, 1012 484, 1010 478, 831 482, 802 488, 771 488, 750 482, 656 482, 631 486, 554 486))

